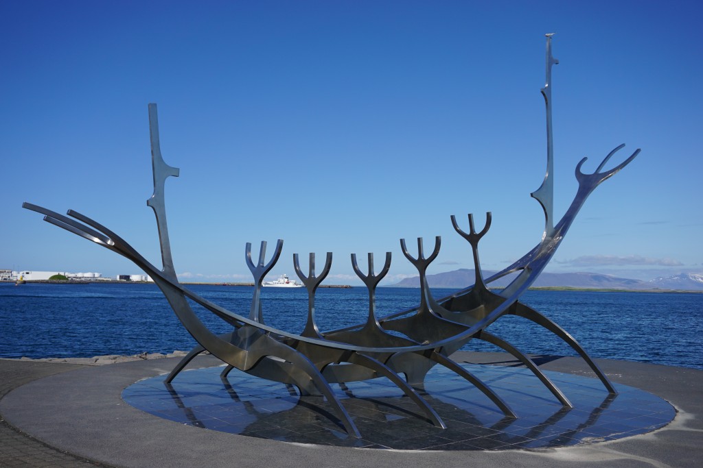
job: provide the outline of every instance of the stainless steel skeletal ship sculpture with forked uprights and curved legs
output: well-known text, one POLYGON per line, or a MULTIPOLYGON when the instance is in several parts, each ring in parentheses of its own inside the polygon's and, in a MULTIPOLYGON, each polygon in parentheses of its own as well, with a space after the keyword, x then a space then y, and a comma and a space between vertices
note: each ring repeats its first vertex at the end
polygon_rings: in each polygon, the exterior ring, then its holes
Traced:
POLYGON ((601 182, 627 166, 640 152, 637 149, 619 166, 610 171, 602 171, 611 156, 624 147, 621 145, 610 152, 592 174, 581 172, 581 167, 586 162, 586 158, 583 158, 576 166, 576 180, 579 182, 579 189, 574 201, 563 218, 556 224, 554 223, 551 69, 558 62, 551 53, 551 39, 551 34, 547 34, 547 77, 546 84, 542 89, 547 110, 547 171, 541 187, 531 194, 541 203, 545 213, 545 229, 542 240, 513 265, 488 279, 484 279, 479 264, 478 244, 491 227, 491 213, 486 213, 486 224, 480 232, 476 232, 473 216, 468 215, 468 233, 459 227, 459 223, 452 215, 451 222, 454 229, 471 246, 476 279, 473 286, 437 300, 432 297, 432 291, 427 285, 426 271, 427 266, 439 253, 441 239, 439 236, 435 239, 434 248, 428 257, 425 257, 423 239, 418 239, 418 254, 416 256, 408 250, 405 239, 401 239, 401 249, 404 255, 418 269, 420 275, 420 305, 414 309, 379 317, 375 307, 375 288, 388 272, 391 254, 386 254, 384 266, 379 273, 375 273, 373 253, 369 253, 368 274, 362 272, 356 255, 352 254, 354 272, 368 288, 368 319, 359 323, 358 326, 323 332, 315 322, 315 293, 330 271, 332 253, 327 254, 325 266, 320 274, 316 274, 315 255, 311 253, 307 276, 303 274, 298 255, 295 254, 293 255, 295 272, 306 286, 309 295, 307 323, 299 335, 267 326, 264 322, 260 297, 262 281, 266 273, 271 271, 280 258, 283 249, 282 240, 278 240, 275 252, 268 263, 265 262, 266 242, 262 242, 256 265, 252 261, 252 246, 247 243, 245 260, 254 277, 254 294, 248 316, 223 309, 181 285, 176 278, 169 245, 164 189, 165 180, 169 176, 177 177, 179 169, 169 166, 162 159, 159 148, 156 105, 154 104, 149 105, 154 193, 147 204, 153 208, 156 216, 162 256, 161 269, 148 262, 129 243, 110 229, 80 213, 68 210, 67 216, 64 216, 30 203, 24 203, 22 206, 44 214, 44 220, 53 225, 62 227, 122 255, 154 279, 183 326, 199 343, 198 347, 195 347, 168 375, 167 384, 194 356, 207 349, 228 365, 222 373, 224 379, 231 369, 237 368, 251 375, 295 385, 302 396, 309 394, 325 396, 344 429, 353 436, 359 436, 354 422, 333 393, 330 384, 343 385, 344 382, 387 377, 417 404, 420 411, 432 424, 445 427, 439 415, 416 390, 423 385, 427 372, 432 367, 439 365, 449 368, 467 380, 470 385, 479 388, 507 417, 517 417, 508 404, 501 399, 501 396, 475 375, 450 359, 449 356, 453 352, 476 338, 501 347, 522 361, 563 406, 570 408, 572 404, 567 396, 539 370, 528 356, 510 345, 509 342, 487 331, 491 323, 502 316, 512 314, 538 323, 567 342, 586 360, 595 375, 605 385, 607 392, 614 395, 617 392, 610 381, 569 333, 546 316, 519 301, 522 293, 534 283, 553 257, 588 195, 601 182), (514 272, 520 273, 501 293, 489 290, 488 285, 492 281, 514 272), (193 313, 191 306, 188 305, 188 299, 226 321, 232 327, 231 332, 215 335, 208 330, 198 319, 198 316, 193 313), (401 375, 405 377, 401 377, 401 375))

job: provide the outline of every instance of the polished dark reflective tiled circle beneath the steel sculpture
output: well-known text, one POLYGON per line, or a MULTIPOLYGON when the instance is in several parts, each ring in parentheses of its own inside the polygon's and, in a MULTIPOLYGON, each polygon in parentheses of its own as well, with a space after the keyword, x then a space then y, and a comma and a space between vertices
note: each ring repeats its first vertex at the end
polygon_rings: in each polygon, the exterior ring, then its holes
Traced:
POLYGON ((506 450, 574 446, 651 432, 676 415, 657 396, 615 385, 612 396, 600 380, 546 372, 574 408, 564 408, 529 370, 463 364, 508 403, 501 410, 470 383, 436 366, 420 394, 444 420, 434 427, 403 392, 385 378, 333 384, 362 439, 348 436, 321 397, 300 397, 295 388, 223 368, 186 370, 172 385, 165 375, 136 382, 122 392, 131 406, 152 415, 243 436, 403 450, 506 450))

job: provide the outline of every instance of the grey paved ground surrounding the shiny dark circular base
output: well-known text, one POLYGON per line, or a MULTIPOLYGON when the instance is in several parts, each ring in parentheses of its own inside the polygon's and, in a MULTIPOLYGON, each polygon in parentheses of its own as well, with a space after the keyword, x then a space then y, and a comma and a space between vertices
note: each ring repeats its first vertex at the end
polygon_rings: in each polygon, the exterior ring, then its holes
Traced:
MULTIPOLYGON (((500 353, 460 362, 514 365, 500 353)), ((0 360, 0 466, 124 467, 698 467, 703 460, 703 371, 599 360, 614 381, 678 410, 650 434, 569 448, 406 451, 311 446, 236 436, 162 420, 127 405, 122 389, 168 372, 176 359, 110 366, 0 360), (27 435, 28 434, 28 435, 27 435), (102 465, 101 465, 102 464, 102 465)), ((592 375, 581 359, 538 356, 544 370, 592 375)), ((213 366, 211 356, 193 366, 213 366)))

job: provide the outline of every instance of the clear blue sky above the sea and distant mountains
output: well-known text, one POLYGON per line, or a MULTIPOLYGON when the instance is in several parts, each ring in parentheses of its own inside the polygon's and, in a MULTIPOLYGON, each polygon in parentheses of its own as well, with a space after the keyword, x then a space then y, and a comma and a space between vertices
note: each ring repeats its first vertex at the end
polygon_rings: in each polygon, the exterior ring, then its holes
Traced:
MULTIPOLYGON (((636 161, 586 203, 549 270, 703 272, 703 6, 697 1, 13 1, 0 3, 0 268, 137 273, 22 210, 72 208, 160 265, 147 105, 157 102, 182 279, 247 281, 247 241, 484 269, 538 243, 544 34, 555 32, 555 215, 611 149, 636 161)), ((257 247, 254 248, 257 250, 257 247)), ((305 268, 305 267, 304 267, 305 268)), ((362 266, 362 268, 364 268, 362 266)), ((306 268, 307 269, 307 268, 306 268)), ((377 270, 380 269, 380 265, 377 270)))

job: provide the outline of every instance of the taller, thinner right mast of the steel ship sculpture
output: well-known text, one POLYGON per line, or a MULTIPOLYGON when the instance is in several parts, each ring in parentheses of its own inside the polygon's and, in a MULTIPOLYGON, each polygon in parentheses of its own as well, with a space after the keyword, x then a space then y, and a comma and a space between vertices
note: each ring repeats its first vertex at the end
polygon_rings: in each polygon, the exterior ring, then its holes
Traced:
POLYGON ((551 237, 554 233, 554 145, 552 137, 552 65, 559 63, 552 55, 552 36, 554 33, 545 34, 547 36, 547 79, 542 88, 544 103, 547 107, 547 173, 541 187, 531 193, 544 209, 544 238, 551 237))

